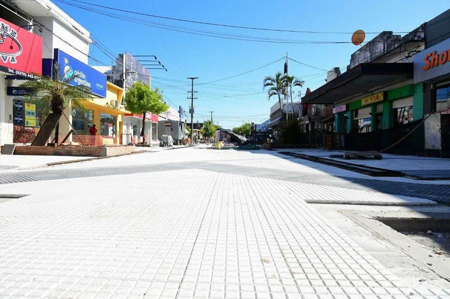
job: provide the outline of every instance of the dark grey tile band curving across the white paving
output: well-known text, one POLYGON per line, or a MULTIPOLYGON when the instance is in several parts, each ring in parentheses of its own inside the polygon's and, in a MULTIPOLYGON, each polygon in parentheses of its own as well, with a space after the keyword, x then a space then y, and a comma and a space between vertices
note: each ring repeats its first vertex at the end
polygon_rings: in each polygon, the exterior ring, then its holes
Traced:
MULTIPOLYGON (((279 160, 284 161, 283 159, 279 160)), ((276 163, 276 161, 274 161, 274 163, 276 163)), ((276 178, 288 182, 296 182, 309 185, 314 184, 326 188, 342 187, 369 192, 383 192, 392 195, 419 197, 439 202, 450 202, 450 185, 405 183, 364 178, 337 177, 328 174, 309 174, 304 172, 292 171, 289 169, 279 170, 263 167, 226 165, 223 163, 209 162, 181 162, 171 165, 124 165, 122 167, 95 167, 85 169, 56 168, 52 170, 17 171, 10 173, 0 173, 0 185, 52 179, 73 179, 84 177, 99 177, 113 174, 136 174, 184 169, 201 169, 219 173, 241 174, 269 179, 276 178)))

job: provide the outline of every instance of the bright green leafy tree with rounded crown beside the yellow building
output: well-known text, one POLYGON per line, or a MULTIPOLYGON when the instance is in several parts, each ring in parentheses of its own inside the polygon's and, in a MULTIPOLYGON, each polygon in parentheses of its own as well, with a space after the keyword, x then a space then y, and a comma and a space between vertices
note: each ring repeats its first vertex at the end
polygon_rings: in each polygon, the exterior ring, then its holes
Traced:
POLYGON ((142 143, 145 143, 145 115, 147 112, 160 114, 166 112, 169 106, 162 101, 162 94, 159 89, 150 89, 140 81, 133 83, 125 95, 126 110, 131 113, 142 113, 142 130, 140 136, 142 143))

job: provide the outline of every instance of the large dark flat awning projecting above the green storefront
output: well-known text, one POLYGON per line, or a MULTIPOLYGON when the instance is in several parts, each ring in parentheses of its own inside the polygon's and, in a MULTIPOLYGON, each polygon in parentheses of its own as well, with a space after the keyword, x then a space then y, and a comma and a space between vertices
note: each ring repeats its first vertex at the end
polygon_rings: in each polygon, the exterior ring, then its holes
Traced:
POLYGON ((302 98, 302 104, 332 104, 413 78, 412 62, 361 63, 302 98))

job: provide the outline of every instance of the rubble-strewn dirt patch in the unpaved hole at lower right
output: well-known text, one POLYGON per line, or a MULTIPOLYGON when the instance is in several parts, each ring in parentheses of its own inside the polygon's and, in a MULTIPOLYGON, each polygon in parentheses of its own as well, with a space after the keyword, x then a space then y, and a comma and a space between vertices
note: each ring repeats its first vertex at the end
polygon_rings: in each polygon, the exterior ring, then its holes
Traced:
POLYGON ((450 232, 401 232, 423 248, 430 250, 433 257, 450 258, 450 232))

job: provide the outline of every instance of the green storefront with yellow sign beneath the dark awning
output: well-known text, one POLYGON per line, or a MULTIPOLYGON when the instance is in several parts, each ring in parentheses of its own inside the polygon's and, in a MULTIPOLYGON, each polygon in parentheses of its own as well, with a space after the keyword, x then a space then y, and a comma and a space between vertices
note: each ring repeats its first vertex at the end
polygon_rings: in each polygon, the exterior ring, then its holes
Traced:
POLYGON ((343 105, 342 103, 334 105, 341 107, 341 112, 334 114, 335 133, 363 134, 390 129, 423 118, 423 86, 405 85, 355 99, 348 102, 345 108, 342 108, 343 105), (343 109, 345 110, 342 111, 343 109))

